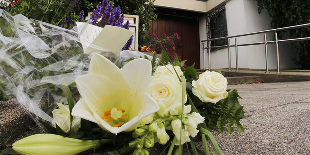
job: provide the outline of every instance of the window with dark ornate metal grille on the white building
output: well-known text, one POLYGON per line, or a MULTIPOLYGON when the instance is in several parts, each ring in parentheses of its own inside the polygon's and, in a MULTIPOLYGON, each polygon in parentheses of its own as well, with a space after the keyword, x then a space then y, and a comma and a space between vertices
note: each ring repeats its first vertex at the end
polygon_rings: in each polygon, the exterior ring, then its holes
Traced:
MULTIPOLYGON (((206 23, 208 39, 228 36, 225 4, 221 4, 209 11, 207 13, 206 23)), ((211 41, 211 46, 227 44, 227 39, 211 41)))

